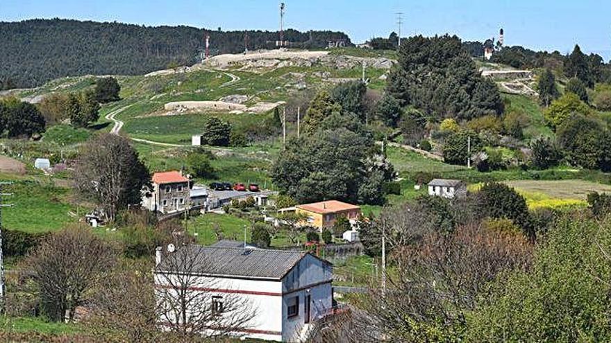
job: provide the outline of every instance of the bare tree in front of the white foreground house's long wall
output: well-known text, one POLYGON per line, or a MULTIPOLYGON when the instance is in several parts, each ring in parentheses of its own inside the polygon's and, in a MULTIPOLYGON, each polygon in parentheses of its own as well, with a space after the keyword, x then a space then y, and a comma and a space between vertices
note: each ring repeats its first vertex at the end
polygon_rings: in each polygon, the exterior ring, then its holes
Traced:
POLYGON ((256 308, 246 297, 232 292, 220 279, 203 276, 212 264, 204 249, 186 245, 168 252, 156 267, 157 312, 168 331, 192 337, 240 335, 252 325, 256 308))

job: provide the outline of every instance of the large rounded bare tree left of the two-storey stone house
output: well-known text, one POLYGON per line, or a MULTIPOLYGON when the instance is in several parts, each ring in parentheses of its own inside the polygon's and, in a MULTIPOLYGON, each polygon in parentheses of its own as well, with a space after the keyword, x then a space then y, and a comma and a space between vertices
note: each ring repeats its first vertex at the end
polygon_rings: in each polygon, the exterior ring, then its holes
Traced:
POLYGON ((138 205, 150 175, 124 137, 101 134, 81 149, 74 173, 78 193, 94 199, 108 220, 128 204, 138 205))

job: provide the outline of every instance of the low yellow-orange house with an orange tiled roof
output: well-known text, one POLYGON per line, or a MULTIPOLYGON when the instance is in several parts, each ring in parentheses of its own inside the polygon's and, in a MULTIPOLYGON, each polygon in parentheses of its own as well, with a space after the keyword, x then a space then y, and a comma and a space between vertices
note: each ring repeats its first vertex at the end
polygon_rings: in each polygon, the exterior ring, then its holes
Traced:
POLYGON ((349 220, 356 220, 361 214, 359 206, 337 200, 297 205, 295 213, 303 213, 308 216, 308 222, 305 225, 317 227, 321 231, 333 227, 335 219, 340 216, 345 216, 349 220))

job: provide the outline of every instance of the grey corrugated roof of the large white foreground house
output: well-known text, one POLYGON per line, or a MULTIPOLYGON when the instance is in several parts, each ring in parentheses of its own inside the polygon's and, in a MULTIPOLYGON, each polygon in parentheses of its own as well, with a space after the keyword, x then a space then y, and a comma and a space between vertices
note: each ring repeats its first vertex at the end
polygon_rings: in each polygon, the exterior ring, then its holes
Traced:
POLYGON ((166 254, 156 267, 158 272, 190 272, 215 276, 253 279, 282 279, 306 253, 233 247, 180 247, 166 254), (185 267, 192 265, 193 267, 185 267))

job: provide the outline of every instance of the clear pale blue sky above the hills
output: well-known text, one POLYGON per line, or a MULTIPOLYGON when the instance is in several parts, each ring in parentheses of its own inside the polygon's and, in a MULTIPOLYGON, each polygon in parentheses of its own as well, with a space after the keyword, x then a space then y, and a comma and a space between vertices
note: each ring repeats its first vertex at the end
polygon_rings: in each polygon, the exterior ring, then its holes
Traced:
MULTIPOLYGON (((347 33, 353 42, 451 33, 483 41, 505 30, 505 45, 567 53, 578 43, 611 58, 611 0, 285 0, 285 26, 347 33)), ((223 30, 278 29, 277 0, 0 0, 0 21, 65 18, 223 30)))

